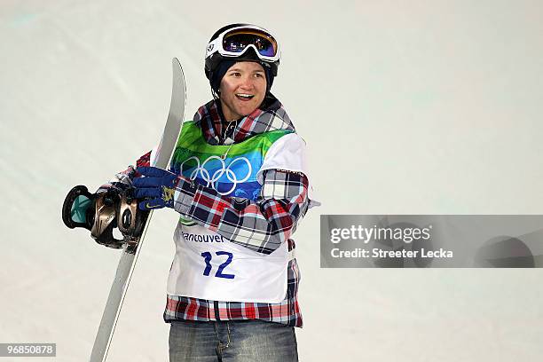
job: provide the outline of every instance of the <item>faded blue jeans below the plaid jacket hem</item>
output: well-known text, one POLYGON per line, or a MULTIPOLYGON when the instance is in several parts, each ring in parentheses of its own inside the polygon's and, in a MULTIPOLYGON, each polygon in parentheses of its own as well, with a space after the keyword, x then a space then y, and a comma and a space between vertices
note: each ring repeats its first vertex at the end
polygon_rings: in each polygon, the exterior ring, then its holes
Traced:
POLYGON ((169 362, 291 362, 298 360, 294 327, 264 320, 174 321, 169 362))

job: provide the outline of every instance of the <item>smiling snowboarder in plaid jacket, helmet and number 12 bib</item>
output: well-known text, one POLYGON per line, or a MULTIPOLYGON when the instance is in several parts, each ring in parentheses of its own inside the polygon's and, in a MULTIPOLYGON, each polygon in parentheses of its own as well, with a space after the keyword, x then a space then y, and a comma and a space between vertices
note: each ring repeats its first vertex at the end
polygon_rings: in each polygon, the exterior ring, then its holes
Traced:
MULTIPOLYGON (((312 200, 303 139, 270 90, 279 43, 232 24, 206 49, 213 100, 185 122, 169 170, 138 160, 140 209, 181 218, 164 320, 170 361, 295 361, 291 239, 312 200)), ((124 177, 126 179, 126 177, 124 177)))

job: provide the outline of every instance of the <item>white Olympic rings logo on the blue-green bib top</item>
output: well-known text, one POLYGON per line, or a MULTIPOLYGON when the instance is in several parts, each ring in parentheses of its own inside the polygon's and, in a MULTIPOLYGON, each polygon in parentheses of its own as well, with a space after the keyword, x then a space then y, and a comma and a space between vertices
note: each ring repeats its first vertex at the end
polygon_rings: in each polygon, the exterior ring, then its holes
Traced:
POLYGON ((232 191, 234 191, 236 189, 236 186, 238 184, 241 184, 241 183, 247 181, 248 177, 251 176, 251 172, 252 172, 251 162, 249 162, 246 157, 238 157, 238 158, 234 159, 232 162, 230 162, 230 164, 228 166, 226 166, 224 160, 222 158, 220 158, 219 156, 209 156, 208 159, 206 161, 203 161, 201 164, 200 164, 200 160, 198 159, 198 157, 193 156, 193 157, 190 157, 190 158, 186 159, 185 161, 183 161, 183 163, 181 163, 181 165, 180 165, 180 169, 183 170, 183 165, 185 165, 186 162, 191 161, 191 160, 196 161, 196 168, 193 169, 193 172, 191 172, 191 175, 189 176, 189 178, 191 180, 193 180, 200 173, 201 179, 204 180, 205 182, 207 182, 206 186, 207 187, 211 186, 213 188, 213 190, 215 190, 217 193, 219 193, 219 194, 221 194, 223 196, 227 195, 229 193, 232 193, 232 191), (209 166, 208 162, 211 162, 213 160, 216 160, 216 161, 220 162, 220 168, 216 169, 216 171, 213 172, 213 175, 211 175, 211 174, 209 174, 209 170, 206 169, 206 165, 209 166), (247 175, 245 175, 241 179, 238 179, 238 176, 234 173, 234 171, 232 171, 232 166, 236 162, 238 162, 238 163, 239 162, 245 162, 247 164, 247 168, 248 168, 247 175), (226 191, 226 192, 221 193, 220 191, 218 191, 218 180, 221 177, 223 177, 223 175, 228 179, 228 181, 232 182, 232 188, 230 190, 226 191))

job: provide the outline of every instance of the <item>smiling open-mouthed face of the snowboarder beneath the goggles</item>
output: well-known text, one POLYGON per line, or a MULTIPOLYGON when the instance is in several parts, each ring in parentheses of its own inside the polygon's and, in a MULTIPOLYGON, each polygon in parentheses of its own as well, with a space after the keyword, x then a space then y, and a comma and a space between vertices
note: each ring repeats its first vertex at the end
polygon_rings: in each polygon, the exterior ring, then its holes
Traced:
POLYGON ((264 68, 253 61, 235 63, 226 71, 219 90, 225 121, 251 114, 266 95, 264 68))

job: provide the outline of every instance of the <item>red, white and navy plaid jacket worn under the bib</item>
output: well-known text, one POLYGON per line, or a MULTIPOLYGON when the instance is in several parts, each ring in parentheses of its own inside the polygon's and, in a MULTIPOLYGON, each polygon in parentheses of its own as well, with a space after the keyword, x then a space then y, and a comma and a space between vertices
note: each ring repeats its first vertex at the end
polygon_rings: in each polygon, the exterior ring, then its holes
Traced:
MULTIPOLYGON (((256 109, 225 127, 220 109, 211 101, 200 107, 194 121, 211 145, 239 143, 271 130, 294 130, 279 101, 271 98, 269 103, 264 110, 256 109)), ((138 166, 149 164, 150 153, 137 162, 138 166)), ((182 179, 177 185, 174 209, 233 243, 270 254, 282 242, 288 243, 289 250, 295 248, 290 236, 309 207, 308 187, 308 179, 302 173, 270 169, 264 171, 259 197, 249 201, 223 196, 210 187, 182 179)), ((297 300, 299 282, 300 272, 293 259, 287 265, 287 295, 281 303, 236 303, 168 295, 163 318, 166 322, 262 319, 302 327, 297 300)))

